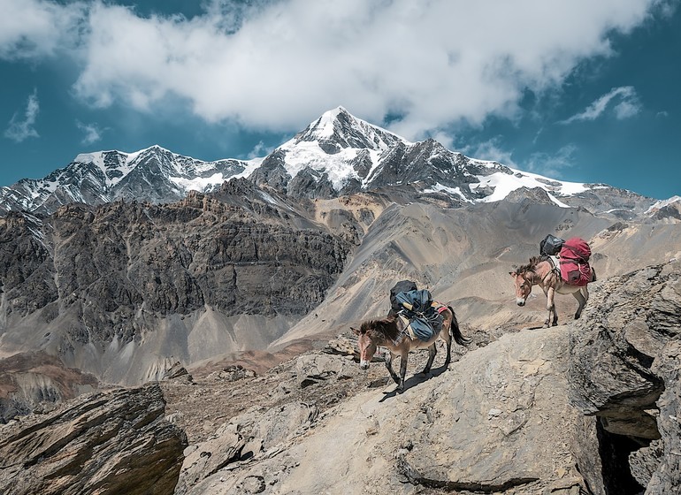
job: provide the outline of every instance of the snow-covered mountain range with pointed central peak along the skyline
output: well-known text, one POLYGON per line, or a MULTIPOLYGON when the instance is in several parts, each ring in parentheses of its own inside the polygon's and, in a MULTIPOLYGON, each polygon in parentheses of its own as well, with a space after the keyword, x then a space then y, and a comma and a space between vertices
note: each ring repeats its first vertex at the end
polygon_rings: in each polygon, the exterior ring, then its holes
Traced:
POLYGON ((203 162, 159 146, 135 153, 81 154, 44 179, 2 187, 0 211, 51 213, 70 202, 175 202, 189 190, 210 192, 234 177, 248 177, 292 198, 329 199, 389 188, 450 206, 532 198, 562 207, 619 211, 624 217, 653 204, 629 191, 549 179, 470 158, 432 139, 410 142, 337 107, 268 156, 250 162, 203 162))

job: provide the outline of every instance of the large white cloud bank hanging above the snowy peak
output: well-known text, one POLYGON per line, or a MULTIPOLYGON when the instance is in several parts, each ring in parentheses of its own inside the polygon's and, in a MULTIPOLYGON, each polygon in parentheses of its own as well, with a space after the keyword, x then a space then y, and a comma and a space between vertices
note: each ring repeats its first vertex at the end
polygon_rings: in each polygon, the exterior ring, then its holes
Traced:
MULTIPOLYGON (((67 7, 53 2, 0 0, 16 9, 26 1, 72 23, 74 90, 90 104, 152 111, 178 103, 207 122, 279 132, 342 105, 376 123, 400 115, 386 126, 410 140, 453 123, 516 118, 524 91, 540 95, 585 57, 608 56, 608 34, 629 32, 659 4, 212 0, 186 19, 96 1, 73 19, 81 4, 60 17, 67 7)), ((17 40, 54 50, 58 39, 38 33, 0 38, 0 50, 17 40)), ((631 105, 617 111, 624 117, 631 105)))

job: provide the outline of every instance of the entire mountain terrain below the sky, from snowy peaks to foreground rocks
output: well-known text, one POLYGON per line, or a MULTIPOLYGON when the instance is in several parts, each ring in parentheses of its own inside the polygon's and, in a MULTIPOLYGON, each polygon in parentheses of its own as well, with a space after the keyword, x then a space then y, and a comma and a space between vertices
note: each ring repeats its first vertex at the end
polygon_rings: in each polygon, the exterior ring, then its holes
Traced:
MULTIPOLYGON (((42 491, 50 478, 115 492, 116 469, 140 468, 126 465, 130 452, 156 445, 160 433, 135 437, 150 421, 173 438, 170 452, 159 446, 172 464, 159 493, 611 494, 610 468, 629 486, 677 488, 665 474, 676 468, 665 443, 676 441, 673 423, 654 410, 676 415, 666 393, 676 390, 678 198, 515 171, 410 143, 340 108, 262 163, 221 171, 161 148, 107 153, 59 171, 43 195, 25 189, 22 210, 0 217, 0 423, 11 423, 0 451, 19 455, 0 486, 42 491), (186 192, 198 183, 208 189, 186 192), (509 270, 547 233, 593 249, 599 281, 584 326, 527 330, 546 317, 543 294, 513 303, 509 270), (348 328, 385 315, 405 278, 451 303, 474 344, 455 348, 450 369, 410 377, 404 394, 381 393, 385 369, 359 372, 348 328), (302 354, 337 336, 326 352, 302 354), (589 371, 610 354, 603 371, 616 379, 600 384, 589 371), (124 424, 97 395, 157 380, 165 420, 156 390, 111 396, 119 411, 154 396, 124 424), (18 419, 30 411, 40 415, 18 419), (183 455, 165 421, 187 434, 183 455), (109 450, 119 432, 124 453, 109 450), (81 463, 100 446, 113 464, 81 463)), ((556 303, 568 322, 575 301, 556 303)))

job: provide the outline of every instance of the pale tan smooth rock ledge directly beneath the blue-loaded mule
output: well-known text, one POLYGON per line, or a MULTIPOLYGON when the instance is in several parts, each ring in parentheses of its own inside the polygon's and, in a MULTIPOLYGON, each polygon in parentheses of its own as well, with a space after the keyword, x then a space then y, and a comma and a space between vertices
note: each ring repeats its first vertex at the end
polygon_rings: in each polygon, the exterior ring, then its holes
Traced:
POLYGON ((187 455, 177 493, 585 492, 568 344, 567 326, 507 334, 447 371, 436 360, 430 379, 410 367, 402 394, 368 390, 315 418, 304 405, 234 418, 187 455))

